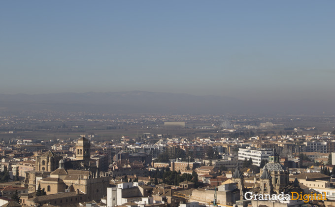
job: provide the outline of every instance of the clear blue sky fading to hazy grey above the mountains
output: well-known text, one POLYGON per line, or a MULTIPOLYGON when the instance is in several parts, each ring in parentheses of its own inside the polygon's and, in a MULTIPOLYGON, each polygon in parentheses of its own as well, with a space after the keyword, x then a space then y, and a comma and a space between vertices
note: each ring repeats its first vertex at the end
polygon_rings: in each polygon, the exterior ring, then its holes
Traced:
POLYGON ((0 93, 327 99, 334 0, 0 1, 0 93))

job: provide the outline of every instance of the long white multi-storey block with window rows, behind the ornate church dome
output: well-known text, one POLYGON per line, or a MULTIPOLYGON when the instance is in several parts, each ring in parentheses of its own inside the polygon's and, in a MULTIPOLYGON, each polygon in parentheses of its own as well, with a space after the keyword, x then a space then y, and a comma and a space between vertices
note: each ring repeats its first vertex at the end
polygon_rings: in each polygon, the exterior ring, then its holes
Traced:
POLYGON ((268 156, 271 154, 272 149, 249 149, 239 148, 238 149, 238 160, 249 160, 251 158, 252 164, 256 166, 261 165, 262 160, 268 160, 268 156))

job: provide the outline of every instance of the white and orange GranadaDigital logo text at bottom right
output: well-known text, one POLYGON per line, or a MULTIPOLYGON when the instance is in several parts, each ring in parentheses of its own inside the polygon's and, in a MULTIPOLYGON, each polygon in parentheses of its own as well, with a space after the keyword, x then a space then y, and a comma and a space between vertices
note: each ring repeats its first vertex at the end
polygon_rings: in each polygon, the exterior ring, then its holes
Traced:
POLYGON ((326 201, 326 192, 323 192, 324 194, 316 194, 311 192, 311 194, 299 194, 297 192, 291 192, 290 194, 284 194, 282 192, 281 194, 253 194, 252 192, 246 192, 244 194, 244 198, 248 201, 255 200, 255 201, 296 201, 301 200, 305 203, 308 203, 309 201, 326 201))

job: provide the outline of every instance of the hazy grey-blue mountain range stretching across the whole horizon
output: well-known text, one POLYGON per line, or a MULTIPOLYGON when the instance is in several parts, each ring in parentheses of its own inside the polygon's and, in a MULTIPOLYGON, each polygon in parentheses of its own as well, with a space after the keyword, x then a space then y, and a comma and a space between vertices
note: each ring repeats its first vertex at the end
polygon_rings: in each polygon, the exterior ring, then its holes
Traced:
POLYGON ((335 114, 329 100, 239 100, 231 97, 145 91, 107 93, 0 94, 0 110, 52 110, 109 113, 178 114, 335 114))

